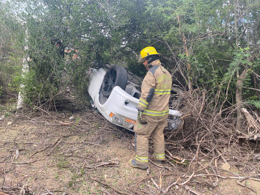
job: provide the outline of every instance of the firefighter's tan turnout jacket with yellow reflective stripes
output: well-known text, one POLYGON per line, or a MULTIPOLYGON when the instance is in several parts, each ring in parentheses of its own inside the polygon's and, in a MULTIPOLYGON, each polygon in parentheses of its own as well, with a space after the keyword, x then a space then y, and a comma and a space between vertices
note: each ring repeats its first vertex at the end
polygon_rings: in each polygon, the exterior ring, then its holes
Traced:
POLYGON ((171 74, 161 66, 160 60, 147 65, 149 68, 141 87, 138 108, 150 122, 160 122, 169 115, 169 99, 172 87, 171 74))

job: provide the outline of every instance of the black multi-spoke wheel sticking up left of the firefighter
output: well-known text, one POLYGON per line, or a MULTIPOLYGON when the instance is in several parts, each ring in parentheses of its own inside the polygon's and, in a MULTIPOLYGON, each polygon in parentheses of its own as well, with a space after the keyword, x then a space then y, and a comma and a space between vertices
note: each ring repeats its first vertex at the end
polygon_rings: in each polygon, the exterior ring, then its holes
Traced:
POLYGON ((104 75, 101 91, 105 97, 109 97, 115 86, 119 86, 120 88, 125 90, 126 85, 126 69, 121 66, 113 65, 107 70, 106 74, 104 75))

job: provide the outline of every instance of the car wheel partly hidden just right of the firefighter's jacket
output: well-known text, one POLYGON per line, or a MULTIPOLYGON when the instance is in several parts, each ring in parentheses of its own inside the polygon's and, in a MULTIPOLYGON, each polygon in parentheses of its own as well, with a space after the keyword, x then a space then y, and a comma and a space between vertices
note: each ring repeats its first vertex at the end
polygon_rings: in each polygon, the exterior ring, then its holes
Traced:
POLYGON ((181 99, 181 95, 183 94, 184 91, 176 88, 176 87, 172 87, 171 88, 171 95, 170 95, 170 100, 169 100, 169 108, 172 110, 178 110, 181 108, 182 106, 182 99, 181 99))

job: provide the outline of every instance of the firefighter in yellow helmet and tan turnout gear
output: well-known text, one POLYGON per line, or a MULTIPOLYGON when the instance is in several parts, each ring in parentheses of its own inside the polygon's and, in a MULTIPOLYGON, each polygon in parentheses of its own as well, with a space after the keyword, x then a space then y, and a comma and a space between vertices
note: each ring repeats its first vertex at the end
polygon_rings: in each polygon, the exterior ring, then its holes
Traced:
POLYGON ((169 115, 169 99, 171 94, 171 74, 161 65, 161 54, 154 47, 141 50, 138 63, 144 64, 148 70, 141 87, 139 98, 138 120, 135 122, 135 158, 128 161, 134 168, 148 168, 148 138, 152 135, 153 159, 161 164, 165 160, 164 134, 169 115))

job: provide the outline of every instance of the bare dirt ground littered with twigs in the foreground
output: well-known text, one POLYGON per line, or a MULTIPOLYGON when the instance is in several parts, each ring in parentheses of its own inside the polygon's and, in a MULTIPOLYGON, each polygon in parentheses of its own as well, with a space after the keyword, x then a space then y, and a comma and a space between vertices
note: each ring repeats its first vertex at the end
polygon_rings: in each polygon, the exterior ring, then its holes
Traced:
MULTIPOLYGON (((149 163, 147 172, 128 166, 133 157, 134 134, 110 124, 92 110, 80 114, 18 113, 0 123, 0 187, 14 194, 21 189, 25 194, 62 195, 255 194, 238 185, 239 179, 206 176, 204 170, 195 173, 203 176, 169 188, 188 166, 149 163)), ((201 163, 209 162, 203 159, 201 163)), ((191 173, 177 183, 187 181, 191 173)), ((229 171, 219 168, 216 175, 246 176, 243 170, 232 166, 229 171)), ((242 183, 245 182, 260 194, 259 180, 247 179, 242 183)))

